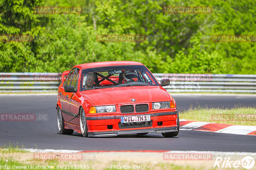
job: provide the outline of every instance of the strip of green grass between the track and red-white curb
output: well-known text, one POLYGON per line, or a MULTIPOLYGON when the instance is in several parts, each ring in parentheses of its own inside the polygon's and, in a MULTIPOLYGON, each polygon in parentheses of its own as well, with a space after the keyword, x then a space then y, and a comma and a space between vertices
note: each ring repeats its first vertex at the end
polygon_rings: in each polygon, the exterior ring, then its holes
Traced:
POLYGON ((233 125, 256 126, 256 108, 234 107, 231 109, 198 107, 179 112, 180 119, 233 125))

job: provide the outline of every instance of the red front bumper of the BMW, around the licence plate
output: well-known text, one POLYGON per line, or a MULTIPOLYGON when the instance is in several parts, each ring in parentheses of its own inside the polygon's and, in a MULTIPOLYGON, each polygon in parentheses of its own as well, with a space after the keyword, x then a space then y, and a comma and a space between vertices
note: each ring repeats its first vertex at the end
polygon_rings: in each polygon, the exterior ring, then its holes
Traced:
POLYGON ((168 112, 151 112, 136 115, 150 115, 150 123, 138 126, 120 126, 120 117, 125 115, 86 116, 88 136, 117 136, 132 133, 165 133, 177 131, 177 110, 168 112), (108 128, 108 126, 110 126, 108 128))

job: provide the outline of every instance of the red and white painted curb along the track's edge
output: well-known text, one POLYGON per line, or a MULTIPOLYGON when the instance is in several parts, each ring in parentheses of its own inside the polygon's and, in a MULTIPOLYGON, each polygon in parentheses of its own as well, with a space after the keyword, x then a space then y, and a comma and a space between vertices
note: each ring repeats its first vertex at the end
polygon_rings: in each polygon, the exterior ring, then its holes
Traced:
POLYGON ((180 119, 180 130, 211 131, 237 135, 256 135, 256 126, 195 122, 180 119))

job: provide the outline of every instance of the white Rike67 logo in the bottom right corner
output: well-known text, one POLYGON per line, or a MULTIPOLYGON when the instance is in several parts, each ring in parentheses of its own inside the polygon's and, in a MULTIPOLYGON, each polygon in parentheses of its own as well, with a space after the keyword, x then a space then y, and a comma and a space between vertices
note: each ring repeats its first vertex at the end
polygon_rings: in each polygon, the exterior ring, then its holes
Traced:
POLYGON ((230 157, 225 157, 224 159, 221 157, 217 157, 214 163, 214 168, 215 167, 222 167, 222 168, 238 168, 243 166, 245 169, 251 169, 255 164, 254 159, 251 156, 245 156, 242 161, 240 160, 230 160, 230 157))

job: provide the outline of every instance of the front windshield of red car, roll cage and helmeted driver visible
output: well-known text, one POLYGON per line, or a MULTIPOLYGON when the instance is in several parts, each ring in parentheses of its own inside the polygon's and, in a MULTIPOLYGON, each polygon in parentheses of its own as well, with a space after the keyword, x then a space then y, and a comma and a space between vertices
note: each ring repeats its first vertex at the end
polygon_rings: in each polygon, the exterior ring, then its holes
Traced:
POLYGON ((81 90, 124 86, 159 86, 145 66, 109 66, 82 71, 81 90))

